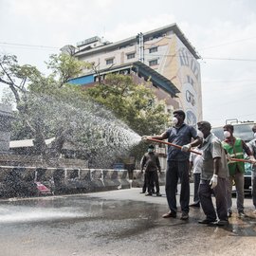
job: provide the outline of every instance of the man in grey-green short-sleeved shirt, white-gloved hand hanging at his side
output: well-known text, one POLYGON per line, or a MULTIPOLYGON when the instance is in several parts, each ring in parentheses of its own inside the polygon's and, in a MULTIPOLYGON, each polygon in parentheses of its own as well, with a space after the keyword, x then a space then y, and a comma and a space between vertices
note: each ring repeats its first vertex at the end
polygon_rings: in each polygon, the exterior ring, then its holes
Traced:
POLYGON ((204 135, 202 144, 203 165, 199 185, 199 198, 206 218, 198 221, 200 224, 229 224, 227 209, 227 178, 229 168, 225 150, 221 141, 210 133, 210 122, 197 123, 198 130, 204 135), (216 210, 212 203, 212 193, 215 196, 216 210))

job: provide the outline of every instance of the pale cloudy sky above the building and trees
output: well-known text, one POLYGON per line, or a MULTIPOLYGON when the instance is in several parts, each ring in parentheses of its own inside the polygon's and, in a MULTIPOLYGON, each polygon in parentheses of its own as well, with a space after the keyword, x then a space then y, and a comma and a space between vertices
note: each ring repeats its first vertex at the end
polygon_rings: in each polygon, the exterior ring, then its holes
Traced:
POLYGON ((96 35, 117 42, 174 23, 202 58, 203 119, 256 121, 255 0, 0 0, 0 54, 46 73, 62 46, 96 35))

